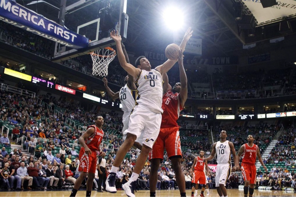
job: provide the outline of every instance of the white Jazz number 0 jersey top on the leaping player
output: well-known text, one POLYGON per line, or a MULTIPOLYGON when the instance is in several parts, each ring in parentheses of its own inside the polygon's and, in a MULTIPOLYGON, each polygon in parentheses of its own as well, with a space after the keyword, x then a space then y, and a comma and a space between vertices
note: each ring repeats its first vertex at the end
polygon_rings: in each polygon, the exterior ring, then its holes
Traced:
POLYGON ((151 71, 141 70, 136 81, 139 97, 136 105, 143 105, 152 112, 163 113, 163 76, 155 69, 151 71))

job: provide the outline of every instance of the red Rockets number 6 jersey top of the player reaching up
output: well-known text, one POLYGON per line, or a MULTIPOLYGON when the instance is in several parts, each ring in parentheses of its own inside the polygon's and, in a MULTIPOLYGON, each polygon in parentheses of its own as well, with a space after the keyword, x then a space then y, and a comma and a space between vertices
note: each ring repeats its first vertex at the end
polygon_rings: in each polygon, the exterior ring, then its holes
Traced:
POLYGON ((163 95, 163 109, 162 121, 160 128, 178 126, 177 120, 182 110, 180 106, 179 93, 168 91, 163 95))

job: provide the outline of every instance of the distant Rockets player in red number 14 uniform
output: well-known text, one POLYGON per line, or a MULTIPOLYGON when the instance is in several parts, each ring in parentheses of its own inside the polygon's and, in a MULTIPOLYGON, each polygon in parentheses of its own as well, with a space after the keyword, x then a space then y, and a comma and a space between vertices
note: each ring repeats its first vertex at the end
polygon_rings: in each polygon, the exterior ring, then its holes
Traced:
POLYGON ((191 167, 191 171, 193 172, 191 197, 194 196, 194 189, 198 188, 197 182, 199 182, 199 184, 202 185, 202 191, 200 192, 200 196, 205 197, 203 194, 205 191, 205 187, 206 187, 206 175, 205 175, 204 169, 206 169, 207 172, 209 172, 209 169, 207 166, 207 161, 203 160, 204 155, 205 155, 205 152, 201 150, 200 156, 194 158, 194 162, 191 167), (196 186, 196 184, 197 184, 197 186, 196 186))

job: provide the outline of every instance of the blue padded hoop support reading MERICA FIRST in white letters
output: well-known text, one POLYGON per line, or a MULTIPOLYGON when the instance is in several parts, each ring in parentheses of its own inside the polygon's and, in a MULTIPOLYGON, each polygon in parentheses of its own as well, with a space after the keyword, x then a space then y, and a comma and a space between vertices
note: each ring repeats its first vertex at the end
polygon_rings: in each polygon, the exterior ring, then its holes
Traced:
POLYGON ((0 2, 0 20, 71 48, 84 48, 89 39, 10 0, 0 2))

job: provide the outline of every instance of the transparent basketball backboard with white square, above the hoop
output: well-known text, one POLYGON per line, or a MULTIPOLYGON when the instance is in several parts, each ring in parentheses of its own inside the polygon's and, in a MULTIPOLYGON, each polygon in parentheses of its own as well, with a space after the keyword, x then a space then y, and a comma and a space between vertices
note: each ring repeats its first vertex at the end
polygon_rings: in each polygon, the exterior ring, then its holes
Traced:
POLYGON ((52 61, 60 62, 89 54, 100 48, 115 45, 110 38, 111 30, 118 30, 126 38, 127 0, 67 0, 59 11, 59 23, 67 29, 89 38, 89 46, 73 49, 55 43, 52 61))

